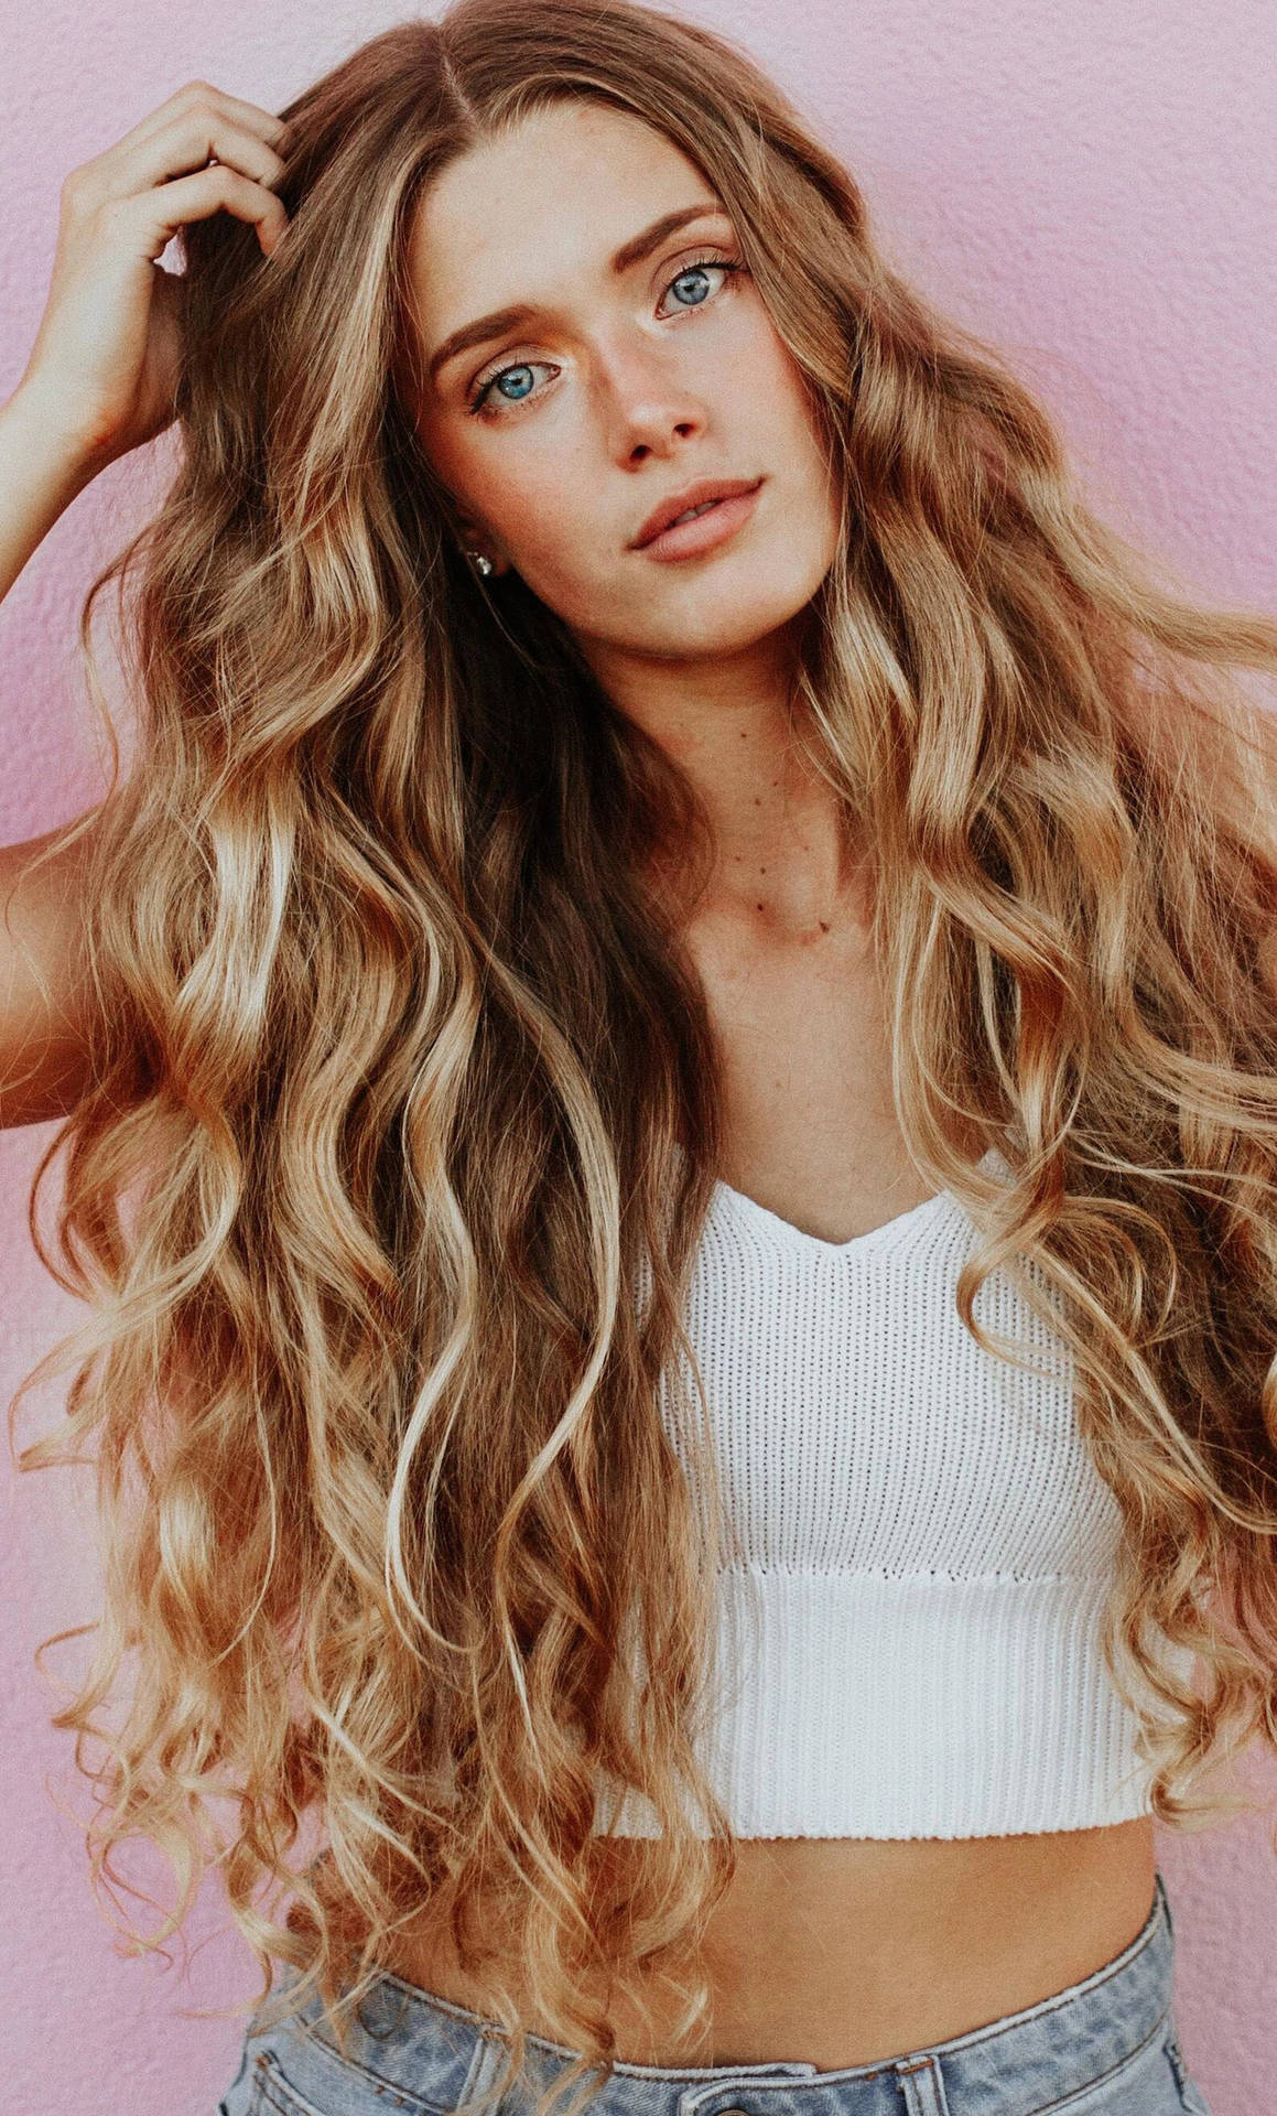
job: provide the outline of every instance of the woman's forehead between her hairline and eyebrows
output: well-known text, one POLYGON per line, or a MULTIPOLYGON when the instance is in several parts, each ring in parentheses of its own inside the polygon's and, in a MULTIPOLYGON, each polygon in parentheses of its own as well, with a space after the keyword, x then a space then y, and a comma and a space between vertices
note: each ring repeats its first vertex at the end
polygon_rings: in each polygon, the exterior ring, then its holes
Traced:
POLYGON ((552 281, 603 275, 630 235, 700 197, 712 186, 696 163, 628 110, 535 110, 423 195, 408 243, 417 320, 438 341, 480 311, 552 298, 552 281))

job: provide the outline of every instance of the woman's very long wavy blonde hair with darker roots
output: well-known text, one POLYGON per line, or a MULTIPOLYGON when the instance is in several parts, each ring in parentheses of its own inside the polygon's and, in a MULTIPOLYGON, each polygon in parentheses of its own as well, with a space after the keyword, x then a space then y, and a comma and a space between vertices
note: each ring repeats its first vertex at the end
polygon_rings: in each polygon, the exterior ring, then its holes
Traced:
POLYGON ((1201 1767, 1277 1746, 1277 772, 1241 675, 1277 624, 1152 582, 721 36, 624 0, 404 21, 283 112, 275 258, 188 229, 182 468, 82 609, 93 675, 118 576, 140 747, 95 813, 95 1086, 30 1208, 40 1240, 66 1149, 40 1255, 93 1316, 23 1380, 78 1361, 21 1462, 95 1441, 106 1602, 55 1725, 95 1885, 127 1837, 182 1881, 142 1945, 216 1860, 262 1995, 292 1964, 343 2038, 450 1904, 512 2038, 493 2093, 524 2061, 499 1951, 581 2053, 537 2112, 607 2074, 609 1991, 664 1978, 704 2025, 736 1864, 698 1763, 729 1524, 679 1382, 719 1081, 638 859, 702 857, 706 819, 556 614, 469 576, 408 408, 414 207, 558 97, 704 171, 810 385, 844 518, 795 730, 871 844, 907 1147, 981 1232, 962 1320, 1015 1356, 973 1316, 1002 1265, 1076 1361, 1154 1813, 1209 1818, 1201 1767), (624 1864, 598 1773, 664 1830, 624 1864))

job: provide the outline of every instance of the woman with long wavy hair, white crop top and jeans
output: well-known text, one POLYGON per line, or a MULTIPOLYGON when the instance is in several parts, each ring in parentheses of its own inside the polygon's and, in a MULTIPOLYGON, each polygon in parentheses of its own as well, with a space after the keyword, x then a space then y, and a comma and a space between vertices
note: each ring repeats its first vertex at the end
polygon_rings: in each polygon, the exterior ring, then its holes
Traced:
POLYGON ((222 2116, 1201 2116, 1152 1824, 1275 1727, 1277 626, 630 4, 76 169, 4 584, 173 417, 0 1115, 91 1303, 57 1722, 99 1879, 220 1862, 222 2116))

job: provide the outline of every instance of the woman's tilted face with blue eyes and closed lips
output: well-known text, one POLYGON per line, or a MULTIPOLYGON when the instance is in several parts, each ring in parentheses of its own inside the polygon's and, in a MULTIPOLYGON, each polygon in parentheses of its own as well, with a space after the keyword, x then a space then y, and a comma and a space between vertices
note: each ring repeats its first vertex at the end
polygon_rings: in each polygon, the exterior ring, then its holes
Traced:
POLYGON ((586 652, 740 654, 803 609, 839 512, 803 377, 664 133, 600 104, 535 112, 440 174, 408 269, 427 459, 467 542, 586 652), (634 548, 698 480, 761 482, 710 508, 710 546, 634 548))

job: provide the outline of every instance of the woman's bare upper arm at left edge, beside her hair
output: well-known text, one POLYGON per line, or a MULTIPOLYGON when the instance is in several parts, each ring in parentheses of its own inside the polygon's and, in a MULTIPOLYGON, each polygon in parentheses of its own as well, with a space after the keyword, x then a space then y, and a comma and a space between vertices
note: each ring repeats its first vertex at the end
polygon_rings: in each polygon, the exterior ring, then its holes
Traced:
POLYGON ((97 815, 0 846, 0 1128, 61 1117, 91 1086, 82 935, 97 815))

